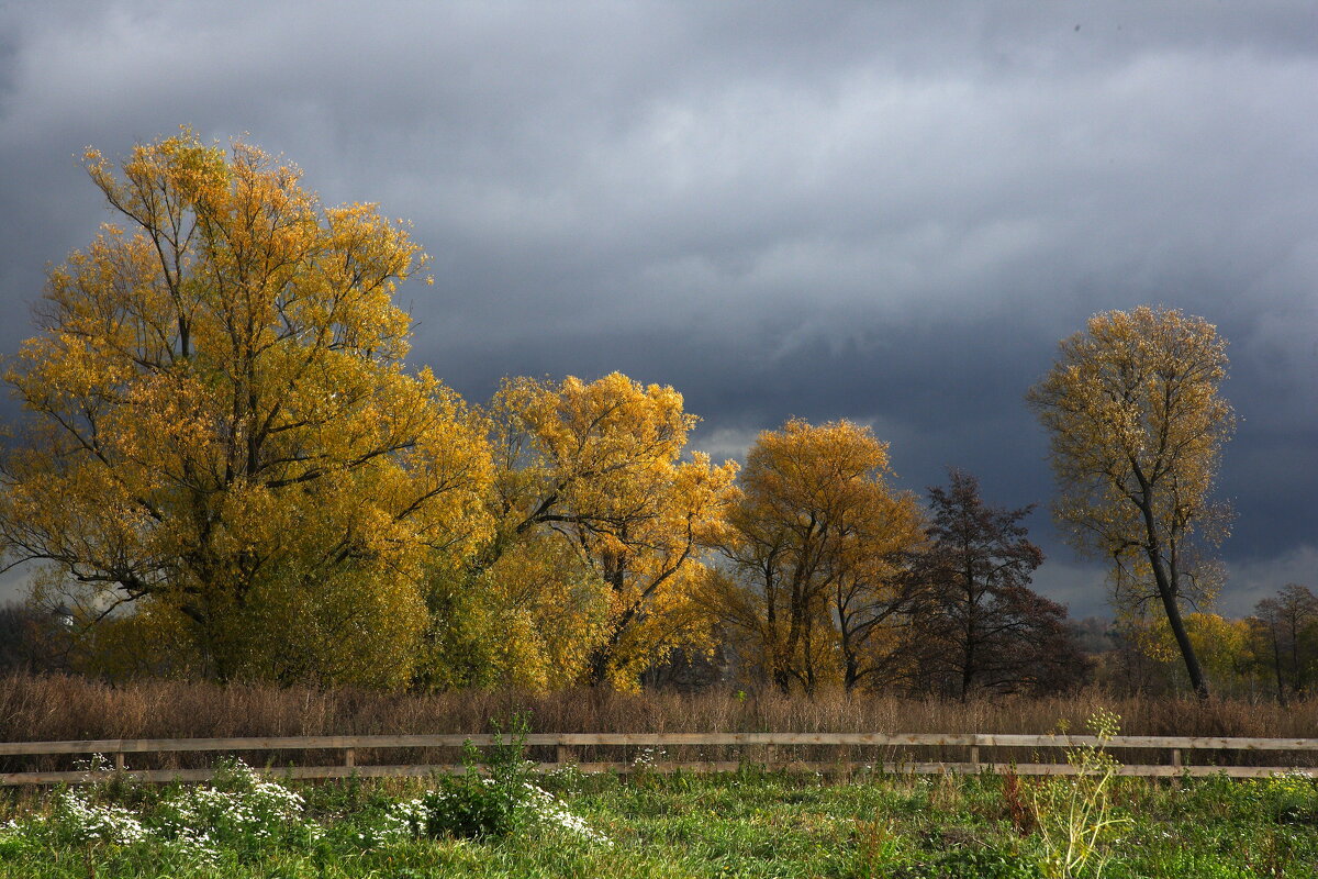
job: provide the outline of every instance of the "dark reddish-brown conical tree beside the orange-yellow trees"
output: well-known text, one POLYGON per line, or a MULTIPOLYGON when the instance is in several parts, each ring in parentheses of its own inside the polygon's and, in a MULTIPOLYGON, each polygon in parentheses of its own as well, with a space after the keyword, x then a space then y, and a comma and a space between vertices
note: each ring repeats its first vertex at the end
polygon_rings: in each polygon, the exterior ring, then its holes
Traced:
POLYGON ((1085 664, 1066 609, 1029 589, 1044 555, 1020 521, 1031 507, 990 507, 979 482, 950 470, 929 489, 929 547, 912 576, 923 586, 912 614, 920 689, 962 701, 975 689, 1045 692, 1074 684, 1085 664))

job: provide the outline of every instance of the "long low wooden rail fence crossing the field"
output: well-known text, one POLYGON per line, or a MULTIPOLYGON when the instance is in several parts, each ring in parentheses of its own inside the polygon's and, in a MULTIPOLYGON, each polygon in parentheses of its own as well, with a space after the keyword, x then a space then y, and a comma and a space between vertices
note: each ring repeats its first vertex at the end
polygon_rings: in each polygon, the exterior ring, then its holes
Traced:
MULTIPOLYGON (((506 739, 505 739, 506 741, 506 739)), ((262 771, 293 779, 426 776, 460 770, 465 742, 476 746, 496 743, 493 735, 304 735, 289 738, 188 738, 188 739, 100 739, 79 742, 0 742, 0 767, 14 770, 18 758, 100 754, 117 771, 142 781, 198 781, 211 778, 211 768, 144 768, 129 756, 179 754, 253 754, 262 771), (358 758, 378 756, 378 751, 407 750, 406 763, 384 764, 358 758), (294 764, 272 755, 285 751, 331 751, 332 764, 294 764), (419 754, 418 754, 419 751, 419 754), (436 760, 443 751, 447 762, 436 760)), ((1072 775, 1065 750, 1098 746, 1091 735, 1016 734, 886 734, 886 733, 532 733, 525 737, 527 752, 552 759, 538 760, 543 771, 576 766, 583 772, 631 772, 645 766, 650 771, 737 771, 746 766, 850 772, 1006 772, 1019 775, 1072 775), (670 755, 670 750, 673 751, 670 755), (706 759, 706 751, 717 758, 706 759), (937 750, 931 759, 929 750, 937 750), (960 759, 948 759, 948 751, 960 759), (921 754, 923 752, 923 754, 921 754), (832 754, 833 759, 818 759, 832 754), (1043 760, 1041 754, 1052 756, 1043 760), (726 759, 735 755, 737 759, 726 759), (692 759, 695 756, 696 759, 692 759), (1017 762, 1021 756, 1028 762, 1017 762)), ((1165 735, 1118 735, 1103 743, 1120 760, 1122 751, 1153 752, 1157 763, 1127 764, 1119 775, 1180 778, 1224 774, 1232 778, 1267 778, 1277 772, 1305 772, 1318 776, 1318 738, 1185 738, 1165 735), (1263 759, 1281 766, 1242 764, 1263 759)), ((250 762, 250 760, 249 760, 250 762)), ((0 771, 0 784, 86 783, 105 779, 111 772, 79 770, 0 771)))

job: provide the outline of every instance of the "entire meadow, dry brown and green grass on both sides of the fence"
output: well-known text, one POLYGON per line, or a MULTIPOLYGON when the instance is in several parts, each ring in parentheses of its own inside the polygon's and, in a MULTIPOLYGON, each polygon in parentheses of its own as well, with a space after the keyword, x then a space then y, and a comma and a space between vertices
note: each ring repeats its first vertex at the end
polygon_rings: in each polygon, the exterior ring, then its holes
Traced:
MULTIPOLYGON (((0 738, 9 741, 477 733, 492 718, 503 729, 511 718, 521 731, 1048 733, 1115 716, 1131 734, 1301 737, 1318 729, 1314 702, 1199 705, 1093 691, 961 704, 0 677, 0 738)), ((733 774, 663 774, 652 763, 660 755, 647 752, 626 775, 572 766, 539 774, 527 755, 514 733, 501 747, 469 750, 472 771, 455 776, 293 783, 229 762, 198 785, 112 776, 8 788, 0 791, 0 876, 1318 876, 1318 781, 1298 774, 1114 778, 1110 758, 1086 749, 1070 754, 1085 767, 1079 778, 1053 779, 825 776, 750 759, 733 774)), ((261 764, 260 754, 248 759, 261 764)))

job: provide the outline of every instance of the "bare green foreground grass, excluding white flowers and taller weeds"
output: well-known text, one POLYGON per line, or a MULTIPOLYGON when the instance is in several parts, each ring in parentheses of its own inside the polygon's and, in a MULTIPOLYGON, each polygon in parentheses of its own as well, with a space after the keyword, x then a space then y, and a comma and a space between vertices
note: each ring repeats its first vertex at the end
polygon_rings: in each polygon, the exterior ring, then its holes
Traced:
MULTIPOLYGON (((1072 784, 1021 779, 1014 810, 1004 780, 988 775, 842 781, 755 770, 718 776, 641 772, 630 779, 567 771, 532 780, 609 842, 543 821, 522 821, 500 837, 410 838, 407 833, 380 842, 376 837, 390 809, 397 812, 395 804, 419 796, 427 785, 349 780, 295 787, 304 804, 287 813, 279 812, 283 807, 275 800, 266 801, 268 812, 253 821, 246 812, 237 818, 223 810, 211 813, 212 824, 228 824, 211 830, 214 857, 199 859, 158 834, 129 845, 74 838, 74 830, 59 826, 61 820, 69 821, 67 810, 65 818, 51 820, 59 813, 61 792, 9 791, 0 799, 0 820, 17 824, 0 832, 0 876, 1015 879, 1046 875, 1043 837, 1028 826, 1036 788, 1072 784), (34 822, 38 817, 45 820, 34 822)), ((244 784, 250 789, 241 778, 231 780, 228 789, 244 784)), ((482 789, 493 789, 468 787, 477 799, 482 789)), ((1061 808, 1070 789, 1054 788, 1053 805, 1045 809, 1061 808)), ((1106 791, 1108 816, 1122 824, 1102 842, 1110 855, 1103 876, 1318 875, 1318 784, 1313 780, 1185 779, 1174 787, 1112 779, 1106 791)), ((178 785, 117 783, 92 789, 88 801, 117 804, 152 824, 169 809, 177 812, 187 796, 178 785)), ((1046 812, 1044 820, 1052 820, 1046 812)), ((1090 861, 1079 875, 1095 875, 1095 863, 1090 861)))

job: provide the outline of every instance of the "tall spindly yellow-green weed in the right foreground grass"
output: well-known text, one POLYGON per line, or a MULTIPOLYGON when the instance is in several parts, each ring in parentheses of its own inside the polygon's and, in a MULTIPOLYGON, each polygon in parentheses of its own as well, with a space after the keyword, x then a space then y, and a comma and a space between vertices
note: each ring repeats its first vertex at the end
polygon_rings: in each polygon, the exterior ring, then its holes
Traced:
POLYGON ((1035 788, 1033 809, 1044 850, 1044 870, 1050 879, 1070 879, 1091 871, 1103 875, 1111 859, 1108 843, 1116 829, 1130 818, 1115 816, 1108 785, 1120 766, 1106 745, 1120 731, 1122 718, 1098 709, 1089 718, 1089 730, 1098 745, 1081 745, 1066 751, 1074 775, 1052 779, 1035 788))

